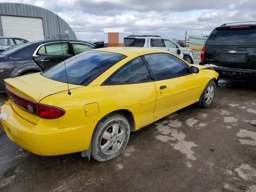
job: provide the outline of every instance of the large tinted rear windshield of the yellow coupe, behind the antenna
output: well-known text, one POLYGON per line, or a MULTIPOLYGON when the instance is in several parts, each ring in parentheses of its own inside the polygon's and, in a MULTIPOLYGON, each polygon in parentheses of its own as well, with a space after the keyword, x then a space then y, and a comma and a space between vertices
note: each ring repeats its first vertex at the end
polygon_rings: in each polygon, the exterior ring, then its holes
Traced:
POLYGON ((42 75, 52 80, 76 85, 88 85, 108 68, 126 58, 117 53, 103 51, 87 51, 65 60, 42 72, 42 75))

